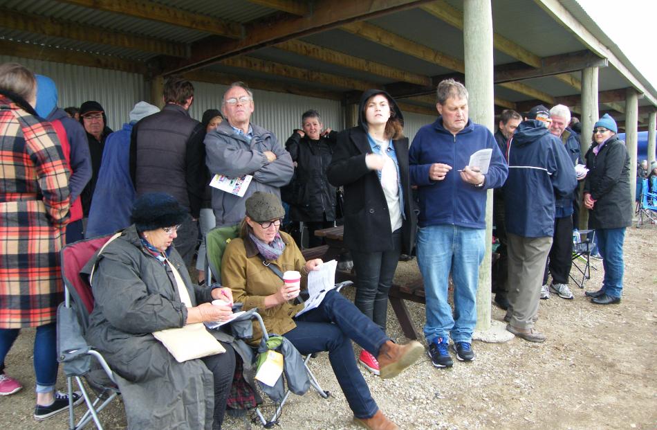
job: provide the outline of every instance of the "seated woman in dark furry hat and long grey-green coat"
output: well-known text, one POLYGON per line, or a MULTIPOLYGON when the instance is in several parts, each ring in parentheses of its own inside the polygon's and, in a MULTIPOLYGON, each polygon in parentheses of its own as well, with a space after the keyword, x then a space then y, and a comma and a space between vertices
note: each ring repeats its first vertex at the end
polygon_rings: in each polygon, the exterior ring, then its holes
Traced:
MULTIPOLYGON (((223 353, 178 362, 156 339, 161 330, 225 321, 232 314, 230 289, 192 284, 172 245, 188 216, 171 195, 142 195, 133 224, 82 270, 91 274, 95 267, 86 339, 117 375, 129 429, 221 429, 235 370, 230 343, 219 342, 223 353), (214 299, 225 303, 213 305, 214 299)), ((221 337, 216 333, 210 335, 215 347, 214 338, 221 337)))

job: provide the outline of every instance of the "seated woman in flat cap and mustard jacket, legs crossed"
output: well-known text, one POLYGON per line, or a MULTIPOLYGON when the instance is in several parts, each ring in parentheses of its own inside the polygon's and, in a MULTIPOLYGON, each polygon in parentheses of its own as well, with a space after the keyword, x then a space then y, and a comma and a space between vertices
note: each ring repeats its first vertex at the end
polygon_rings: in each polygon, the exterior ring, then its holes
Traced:
MULTIPOLYGON (((259 309, 267 331, 286 337, 303 355, 329 351, 329 361, 342 388, 354 421, 366 429, 397 429, 378 409, 353 355, 351 341, 377 357, 382 378, 398 375, 422 355, 417 341, 399 346, 381 328, 364 316, 353 303, 335 290, 324 301, 297 316, 304 305, 295 305, 299 287, 286 287, 275 272, 263 265, 266 260, 279 271, 299 271, 306 285, 309 271, 322 260, 306 262, 290 235, 279 231, 285 215, 280 199, 265 192, 255 192, 246 200, 246 217, 240 237, 232 240, 223 254, 221 280, 232 289, 234 300, 243 309, 259 309)), ((254 326, 254 341, 261 333, 254 326)))

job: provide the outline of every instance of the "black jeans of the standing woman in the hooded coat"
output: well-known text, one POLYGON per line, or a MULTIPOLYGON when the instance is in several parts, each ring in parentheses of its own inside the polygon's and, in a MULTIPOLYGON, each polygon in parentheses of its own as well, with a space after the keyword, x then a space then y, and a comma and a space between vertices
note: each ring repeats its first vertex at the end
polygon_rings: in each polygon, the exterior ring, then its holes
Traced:
POLYGON ((392 233, 394 248, 382 252, 351 250, 356 271, 356 295, 353 303, 384 332, 388 312, 388 292, 402 253, 401 229, 392 233))

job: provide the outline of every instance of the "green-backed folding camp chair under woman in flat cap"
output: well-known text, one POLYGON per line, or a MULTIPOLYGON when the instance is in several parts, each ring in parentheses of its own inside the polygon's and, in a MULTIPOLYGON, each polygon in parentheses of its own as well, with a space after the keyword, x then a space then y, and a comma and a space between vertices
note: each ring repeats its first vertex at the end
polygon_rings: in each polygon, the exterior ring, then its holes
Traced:
MULTIPOLYGON (((239 235, 239 225, 217 227, 216 229, 210 230, 209 232, 207 232, 207 235, 205 235, 205 278, 207 285, 212 285, 212 279, 216 280, 216 282, 221 282, 221 257, 223 256, 223 251, 225 250, 228 243, 230 243, 230 240, 237 238, 238 235, 239 235)), ((340 291, 342 287, 351 284, 353 283, 350 280, 348 280, 343 283, 337 284, 336 289, 337 291, 340 291)), ((264 327, 262 333, 263 333, 263 337, 265 339, 268 339, 268 334, 266 333, 266 329, 264 327)), ((320 396, 326 399, 327 397, 329 397, 329 395, 331 395, 331 393, 329 393, 329 391, 325 391, 324 389, 322 389, 322 386, 320 386, 320 383, 317 382, 315 375, 313 375, 313 372, 308 367, 309 362, 315 356, 316 354, 306 355, 306 357, 304 357, 304 366, 306 368, 306 373, 308 374, 308 379, 310 379, 311 386, 315 388, 315 391, 317 391, 317 393, 320 396)), ((285 402, 288 400, 289 395, 290 395, 290 391, 286 390, 283 400, 277 406, 270 420, 267 420, 264 417, 259 407, 256 408, 255 411, 256 415, 260 423, 263 425, 263 427, 265 427, 266 429, 270 429, 275 424, 277 424, 277 421, 280 418, 281 413, 283 413, 283 406, 285 402)))

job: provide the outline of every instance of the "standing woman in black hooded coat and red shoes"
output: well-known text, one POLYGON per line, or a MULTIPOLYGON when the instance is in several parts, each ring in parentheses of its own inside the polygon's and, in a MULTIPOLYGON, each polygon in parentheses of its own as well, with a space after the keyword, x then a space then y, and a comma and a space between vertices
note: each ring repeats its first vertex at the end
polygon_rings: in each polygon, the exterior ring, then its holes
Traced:
MULTIPOLYGON (((401 253, 415 241, 403 116, 385 91, 360 99, 358 127, 337 135, 329 182, 344 186, 344 244, 356 271, 355 305, 385 330, 388 292, 401 253)), ((362 351, 359 361, 378 375, 378 363, 362 351)))

